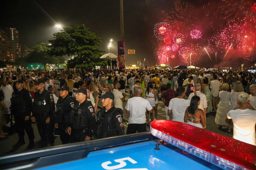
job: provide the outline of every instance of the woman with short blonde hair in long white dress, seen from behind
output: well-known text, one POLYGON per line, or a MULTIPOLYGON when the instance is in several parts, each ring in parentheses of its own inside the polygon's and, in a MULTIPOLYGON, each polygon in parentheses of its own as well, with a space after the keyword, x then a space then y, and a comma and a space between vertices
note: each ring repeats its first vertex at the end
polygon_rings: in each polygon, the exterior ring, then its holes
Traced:
POLYGON ((230 111, 231 93, 227 91, 229 89, 228 83, 224 83, 221 87, 223 91, 219 92, 220 102, 215 116, 215 123, 224 129, 228 127, 227 112, 230 111))

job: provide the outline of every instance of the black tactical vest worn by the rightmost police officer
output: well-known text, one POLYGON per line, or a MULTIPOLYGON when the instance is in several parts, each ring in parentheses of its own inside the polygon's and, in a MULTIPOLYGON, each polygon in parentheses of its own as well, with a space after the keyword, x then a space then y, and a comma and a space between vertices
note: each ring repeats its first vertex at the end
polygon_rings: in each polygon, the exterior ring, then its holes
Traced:
MULTIPOLYGON (((110 112, 108 111, 107 114, 105 113, 104 109, 102 109, 100 112, 98 112, 97 122, 96 122, 96 124, 97 124, 97 129, 96 130, 97 130, 97 137, 98 138, 116 136, 116 129, 111 128, 111 125, 114 124, 114 122, 112 122, 112 117, 113 117, 113 114, 116 111, 119 111, 119 109, 114 108, 110 112)), ((123 117, 122 112, 120 112, 120 115, 123 117)))

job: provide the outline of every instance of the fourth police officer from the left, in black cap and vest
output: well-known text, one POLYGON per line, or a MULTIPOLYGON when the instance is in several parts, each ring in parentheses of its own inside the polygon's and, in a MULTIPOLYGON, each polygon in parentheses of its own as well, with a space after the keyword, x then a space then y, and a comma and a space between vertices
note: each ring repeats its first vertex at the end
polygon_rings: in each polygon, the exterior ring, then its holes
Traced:
POLYGON ((71 135, 70 142, 91 140, 95 130, 96 117, 92 103, 86 99, 87 89, 80 88, 73 90, 76 93, 76 100, 67 132, 71 135))

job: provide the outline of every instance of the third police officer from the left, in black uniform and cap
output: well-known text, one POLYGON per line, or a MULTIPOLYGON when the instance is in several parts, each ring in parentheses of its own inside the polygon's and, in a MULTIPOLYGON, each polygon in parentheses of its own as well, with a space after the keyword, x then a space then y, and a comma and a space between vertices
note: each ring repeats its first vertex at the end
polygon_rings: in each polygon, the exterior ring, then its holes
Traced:
POLYGON ((62 144, 68 144, 69 135, 65 131, 69 124, 70 111, 74 107, 76 100, 69 95, 68 86, 62 86, 58 91, 60 98, 56 106, 55 128, 59 131, 62 144))

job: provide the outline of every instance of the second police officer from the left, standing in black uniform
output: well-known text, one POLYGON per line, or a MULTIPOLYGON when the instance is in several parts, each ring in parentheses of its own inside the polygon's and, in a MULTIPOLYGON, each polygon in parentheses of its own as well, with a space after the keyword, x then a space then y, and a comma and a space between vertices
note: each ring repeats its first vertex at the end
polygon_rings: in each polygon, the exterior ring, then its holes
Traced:
POLYGON ((44 80, 39 78, 35 82, 37 92, 33 102, 32 118, 37 121, 37 129, 41 137, 42 147, 47 146, 47 137, 51 146, 54 145, 54 120, 53 112, 55 110, 53 94, 44 89, 44 80))

